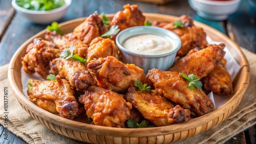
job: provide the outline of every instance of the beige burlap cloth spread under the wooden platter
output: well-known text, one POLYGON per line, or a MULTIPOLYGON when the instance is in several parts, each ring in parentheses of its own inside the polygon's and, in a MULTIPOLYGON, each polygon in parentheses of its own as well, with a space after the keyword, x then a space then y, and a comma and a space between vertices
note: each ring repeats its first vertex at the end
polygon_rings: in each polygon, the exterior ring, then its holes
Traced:
MULTIPOLYGON (((176 143, 223 143, 256 123, 256 55, 242 49, 250 65, 250 83, 236 110, 222 123, 194 137, 176 143)), ((4 87, 8 87, 8 130, 28 143, 84 143, 60 134, 35 121, 17 102, 7 79, 8 65, 0 67, 0 123, 4 124, 4 87)))

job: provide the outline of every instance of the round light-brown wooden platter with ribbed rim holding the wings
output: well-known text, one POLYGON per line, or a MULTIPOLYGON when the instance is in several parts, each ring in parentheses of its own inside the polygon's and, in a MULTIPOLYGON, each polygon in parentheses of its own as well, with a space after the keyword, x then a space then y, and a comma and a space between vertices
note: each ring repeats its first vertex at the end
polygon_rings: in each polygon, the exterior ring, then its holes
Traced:
MULTIPOLYGON (((144 13, 148 20, 168 20, 175 21, 178 17, 144 13)), ((110 18, 112 15, 107 15, 110 18)), ((60 24, 63 33, 72 32, 85 18, 74 19, 71 21, 63 22, 60 24)), ((103 126, 95 126, 86 123, 72 121, 70 119, 62 118, 58 115, 45 111, 26 98, 23 93, 22 84, 22 63, 21 58, 25 55, 26 47, 36 37, 44 35, 45 31, 41 31, 28 39, 23 45, 19 47, 11 59, 8 71, 8 79, 10 87, 18 100, 19 104, 34 118, 36 121, 45 125, 49 129, 80 141, 92 143, 168 143, 182 140, 201 132, 204 132, 222 121, 224 121, 241 102, 244 92, 249 83, 249 66, 248 62, 239 49, 239 46, 231 41, 226 35, 219 31, 204 25, 203 23, 195 21, 195 25, 202 27, 207 35, 215 41, 222 41, 228 47, 231 54, 240 64, 241 69, 233 82, 233 94, 230 100, 223 106, 203 116, 191 119, 188 122, 181 124, 142 128, 142 129, 129 129, 129 128, 111 128, 103 126)), ((24 87, 26 87, 24 85, 24 87)))

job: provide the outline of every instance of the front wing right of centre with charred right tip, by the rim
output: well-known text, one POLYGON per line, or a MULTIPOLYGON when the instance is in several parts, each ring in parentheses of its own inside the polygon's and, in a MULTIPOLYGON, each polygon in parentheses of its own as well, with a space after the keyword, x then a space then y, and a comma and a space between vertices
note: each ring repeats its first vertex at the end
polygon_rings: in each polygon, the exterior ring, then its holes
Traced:
POLYGON ((130 87, 125 99, 156 126, 178 124, 190 119, 188 109, 183 109, 180 105, 175 106, 154 91, 136 91, 135 87, 130 87))

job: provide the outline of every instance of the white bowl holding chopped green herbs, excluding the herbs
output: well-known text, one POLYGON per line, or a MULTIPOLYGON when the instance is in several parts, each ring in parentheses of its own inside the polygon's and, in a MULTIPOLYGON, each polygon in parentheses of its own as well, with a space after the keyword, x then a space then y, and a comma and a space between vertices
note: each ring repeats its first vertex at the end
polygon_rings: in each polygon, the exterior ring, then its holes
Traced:
POLYGON ((49 24, 53 21, 61 19, 68 10, 72 0, 65 0, 65 5, 49 11, 35 11, 28 10, 18 6, 15 0, 12 0, 12 6, 15 11, 26 18, 30 19, 34 23, 49 24))

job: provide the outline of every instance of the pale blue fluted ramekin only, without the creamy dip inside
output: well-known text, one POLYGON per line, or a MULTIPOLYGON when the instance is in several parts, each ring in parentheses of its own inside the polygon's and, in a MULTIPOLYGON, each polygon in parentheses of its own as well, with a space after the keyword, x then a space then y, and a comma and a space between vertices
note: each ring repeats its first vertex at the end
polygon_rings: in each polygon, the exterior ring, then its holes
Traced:
POLYGON ((177 51, 180 49, 181 40, 174 32, 151 26, 138 26, 125 29, 121 31, 116 37, 116 44, 120 49, 120 53, 124 63, 133 63, 136 66, 141 67, 144 73, 152 68, 158 68, 161 70, 167 70, 173 65, 177 51), (147 55, 138 54, 123 47, 123 42, 131 37, 143 35, 143 34, 155 34, 163 37, 168 37, 173 44, 172 50, 163 54, 147 55))

